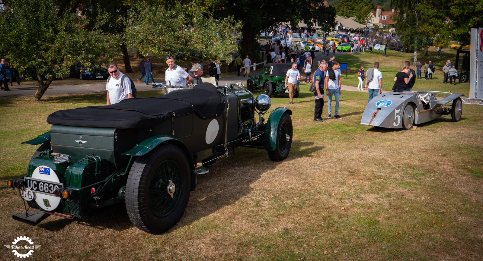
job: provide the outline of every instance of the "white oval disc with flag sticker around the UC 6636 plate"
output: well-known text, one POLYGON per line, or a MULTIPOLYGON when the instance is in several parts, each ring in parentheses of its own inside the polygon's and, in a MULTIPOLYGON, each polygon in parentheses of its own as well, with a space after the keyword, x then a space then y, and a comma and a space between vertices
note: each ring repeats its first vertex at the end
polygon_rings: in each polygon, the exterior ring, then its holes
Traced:
MULTIPOLYGON (((60 183, 57 174, 48 166, 38 166, 32 173, 32 179, 36 179, 33 181, 34 188, 38 188, 39 186, 43 186, 43 189, 47 189, 48 192, 52 193, 55 190, 55 183, 60 183), (49 182, 46 185, 43 181, 49 182), (50 184, 53 184, 50 186, 50 184)), ((50 193, 41 193, 41 192, 33 192, 34 199, 37 205, 47 211, 52 211, 57 208, 60 204, 60 197, 56 197, 50 193)))

